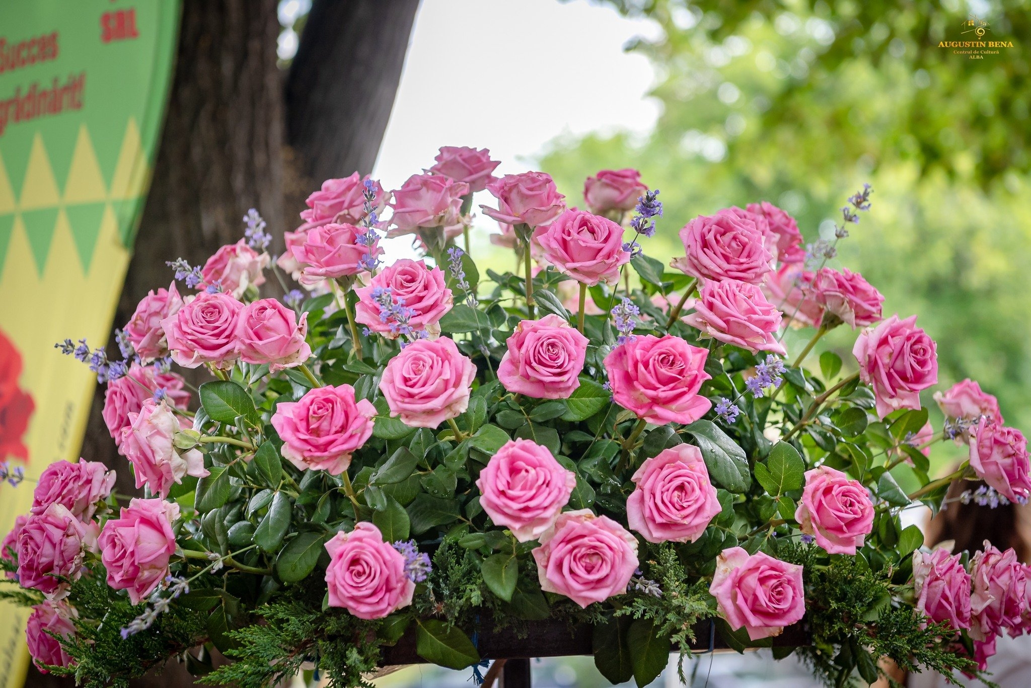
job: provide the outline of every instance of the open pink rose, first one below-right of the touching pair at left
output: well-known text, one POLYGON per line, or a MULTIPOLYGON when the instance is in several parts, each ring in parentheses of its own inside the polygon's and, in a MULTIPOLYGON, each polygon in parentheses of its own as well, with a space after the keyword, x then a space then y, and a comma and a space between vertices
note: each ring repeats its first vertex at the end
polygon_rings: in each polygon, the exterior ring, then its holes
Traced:
POLYGON ((272 427, 284 441, 282 456, 298 469, 339 476, 372 435, 375 415, 370 401, 356 401, 351 385, 329 385, 308 390, 300 401, 276 404, 272 427))

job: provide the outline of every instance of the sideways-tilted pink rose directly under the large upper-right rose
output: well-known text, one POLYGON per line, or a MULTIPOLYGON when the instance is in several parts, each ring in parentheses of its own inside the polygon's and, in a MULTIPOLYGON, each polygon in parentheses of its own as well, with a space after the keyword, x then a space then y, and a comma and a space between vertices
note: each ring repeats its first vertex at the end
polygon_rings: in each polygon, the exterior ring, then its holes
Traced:
POLYGON ((737 280, 706 282, 698 290, 695 312, 683 320, 714 337, 753 353, 788 353, 774 333, 780 327, 780 312, 766 300, 759 287, 737 280))

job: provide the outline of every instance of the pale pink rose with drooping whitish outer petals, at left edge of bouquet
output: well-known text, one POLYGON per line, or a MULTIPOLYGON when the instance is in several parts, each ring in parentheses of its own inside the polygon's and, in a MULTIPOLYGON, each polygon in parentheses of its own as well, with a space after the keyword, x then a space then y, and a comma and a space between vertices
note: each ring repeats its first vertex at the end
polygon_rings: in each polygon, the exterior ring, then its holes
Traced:
POLYGON ((122 430, 121 451, 132 464, 137 488, 146 485, 152 494, 164 498, 185 476, 210 474, 198 450, 176 449, 175 433, 192 429, 193 421, 176 416, 164 401, 145 400, 138 413, 129 414, 129 427, 122 430))

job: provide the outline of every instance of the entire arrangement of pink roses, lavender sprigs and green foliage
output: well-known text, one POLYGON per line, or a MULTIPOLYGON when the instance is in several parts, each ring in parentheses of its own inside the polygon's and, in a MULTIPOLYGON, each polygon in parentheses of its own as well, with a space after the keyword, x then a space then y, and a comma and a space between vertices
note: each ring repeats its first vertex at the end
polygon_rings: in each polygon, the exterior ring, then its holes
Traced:
POLYGON ((90 461, 44 471, 0 547, 41 670, 126 685, 178 656, 211 684, 314 667, 356 686, 405 633, 475 667, 483 624, 554 619, 590 624, 601 673, 640 686, 699 622, 738 650, 802 624, 777 656, 840 686, 882 658, 978 675, 998 634, 1031 628, 1011 550, 931 551, 901 525, 954 481, 998 503, 1031 480, 976 383, 936 393, 947 420, 929 426, 935 342, 827 265, 869 187, 807 249, 768 202, 697 218, 667 270, 641 244, 662 203, 635 170, 589 177, 578 210, 542 172, 495 178, 487 151, 436 163, 392 192, 327 181, 275 260, 250 212, 204 266, 170 263, 182 287, 140 302, 121 359, 58 345, 106 381, 145 496, 90 461), (517 273, 467 253, 485 189, 517 273), (425 258, 385 265, 385 232, 425 258), (268 271, 307 293, 260 298, 268 271), (855 360, 817 357, 842 325, 855 360), (788 327, 813 328, 793 356, 788 327), (211 380, 194 398, 174 366, 211 380), (942 439, 969 460, 931 480, 942 439))

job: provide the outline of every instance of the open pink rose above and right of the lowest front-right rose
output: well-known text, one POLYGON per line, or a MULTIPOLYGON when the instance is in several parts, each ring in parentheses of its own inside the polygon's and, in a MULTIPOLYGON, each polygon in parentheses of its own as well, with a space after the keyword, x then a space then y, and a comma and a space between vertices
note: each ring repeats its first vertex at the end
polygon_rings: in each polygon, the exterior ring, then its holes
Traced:
POLYGON ((820 466, 805 471, 805 489, 795 510, 799 530, 814 535, 830 554, 856 554, 873 530, 873 502, 859 481, 820 466))

